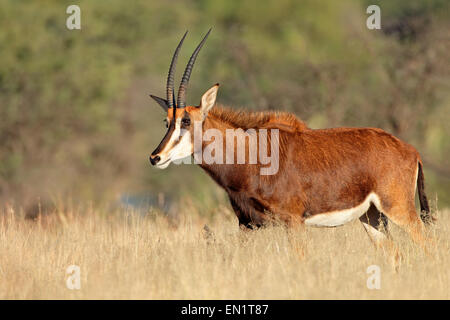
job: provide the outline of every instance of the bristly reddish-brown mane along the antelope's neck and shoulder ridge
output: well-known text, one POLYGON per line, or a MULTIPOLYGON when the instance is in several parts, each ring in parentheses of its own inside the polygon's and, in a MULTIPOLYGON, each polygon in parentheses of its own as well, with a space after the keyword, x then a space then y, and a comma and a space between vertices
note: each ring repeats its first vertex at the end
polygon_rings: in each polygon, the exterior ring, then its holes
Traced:
POLYGON ((233 110, 217 105, 209 111, 208 116, 217 118, 233 127, 242 128, 244 130, 251 128, 267 128, 294 132, 308 129, 306 124, 295 115, 283 111, 233 110))

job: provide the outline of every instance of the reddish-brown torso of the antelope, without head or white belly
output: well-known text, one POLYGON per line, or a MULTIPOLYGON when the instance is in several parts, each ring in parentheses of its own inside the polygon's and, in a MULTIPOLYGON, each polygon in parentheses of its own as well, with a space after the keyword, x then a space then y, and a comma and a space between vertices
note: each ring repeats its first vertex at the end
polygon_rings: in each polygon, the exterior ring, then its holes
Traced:
POLYGON ((200 164, 226 190, 240 224, 260 226, 273 215, 303 222, 315 214, 355 207, 371 192, 380 197, 385 211, 416 214, 419 154, 385 131, 313 130, 286 113, 236 113, 217 107, 203 127, 251 128, 245 123, 256 130, 279 130, 277 174, 260 175, 260 164, 200 164))

